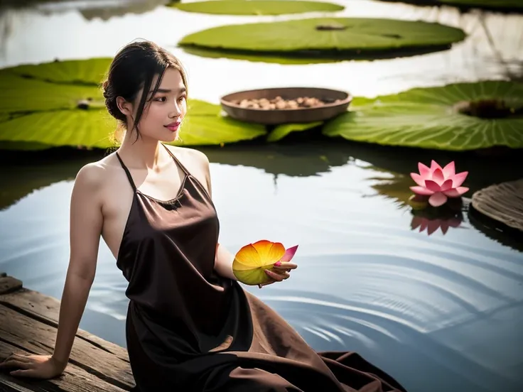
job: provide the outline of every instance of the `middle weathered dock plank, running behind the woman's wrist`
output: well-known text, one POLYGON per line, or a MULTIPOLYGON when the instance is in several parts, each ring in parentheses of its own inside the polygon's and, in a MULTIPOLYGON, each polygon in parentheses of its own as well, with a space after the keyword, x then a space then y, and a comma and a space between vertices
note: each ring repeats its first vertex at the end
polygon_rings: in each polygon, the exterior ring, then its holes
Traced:
MULTIPOLYGON (((51 354, 56 328, 0 305, 0 339, 37 354, 51 354)), ((129 363, 84 339, 72 345, 70 364, 85 369, 99 379, 129 390, 134 378, 129 363)))

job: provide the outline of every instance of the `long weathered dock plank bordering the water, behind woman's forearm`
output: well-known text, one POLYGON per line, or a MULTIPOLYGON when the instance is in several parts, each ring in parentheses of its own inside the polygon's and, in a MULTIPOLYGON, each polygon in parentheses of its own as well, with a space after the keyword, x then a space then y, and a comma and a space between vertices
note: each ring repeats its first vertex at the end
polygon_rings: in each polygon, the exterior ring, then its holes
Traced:
MULTIPOLYGON (((15 293, 0 295, 0 304, 11 307, 18 312, 25 313, 35 320, 44 322, 47 325, 58 327, 58 315, 60 314, 60 301, 43 295, 33 290, 22 288, 15 293)), ((116 355, 119 359, 129 362, 129 355, 124 347, 107 342, 89 332, 78 330, 77 337, 85 339, 87 342, 116 355)))

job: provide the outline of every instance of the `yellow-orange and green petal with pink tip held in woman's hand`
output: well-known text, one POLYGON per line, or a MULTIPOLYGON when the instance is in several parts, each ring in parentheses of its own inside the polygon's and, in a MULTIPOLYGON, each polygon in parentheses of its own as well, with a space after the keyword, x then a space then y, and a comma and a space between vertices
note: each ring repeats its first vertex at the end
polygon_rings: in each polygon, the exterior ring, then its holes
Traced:
POLYGON ((264 270, 270 270, 274 263, 291 261, 298 245, 285 249, 279 242, 265 239, 239 249, 232 262, 232 272, 238 281, 247 285, 259 285, 271 280, 264 270))

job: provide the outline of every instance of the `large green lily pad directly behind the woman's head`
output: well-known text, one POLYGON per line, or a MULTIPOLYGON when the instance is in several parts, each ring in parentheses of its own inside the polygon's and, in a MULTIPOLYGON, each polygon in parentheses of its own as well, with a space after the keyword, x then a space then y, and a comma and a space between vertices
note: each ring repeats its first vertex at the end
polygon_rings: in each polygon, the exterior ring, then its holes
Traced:
MULTIPOLYGON (((99 83, 111 59, 70 60, 0 70, 0 147, 112 146, 117 122, 99 83), (3 143, 3 144, 1 144, 3 143)), ((180 145, 249 140, 264 127, 220 116, 220 107, 192 99, 180 145)))

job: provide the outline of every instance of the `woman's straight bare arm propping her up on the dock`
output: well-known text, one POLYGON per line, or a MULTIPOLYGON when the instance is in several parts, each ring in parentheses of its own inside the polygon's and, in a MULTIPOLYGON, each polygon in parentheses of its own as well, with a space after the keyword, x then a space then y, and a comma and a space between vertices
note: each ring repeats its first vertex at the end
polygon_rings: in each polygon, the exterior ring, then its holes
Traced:
POLYGON ((95 164, 84 166, 78 172, 72 189, 70 260, 60 303, 58 332, 53 354, 53 359, 64 369, 95 278, 103 223, 99 197, 100 170, 95 164))

